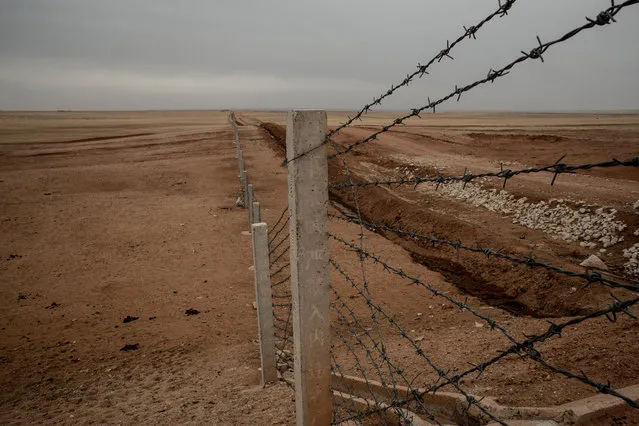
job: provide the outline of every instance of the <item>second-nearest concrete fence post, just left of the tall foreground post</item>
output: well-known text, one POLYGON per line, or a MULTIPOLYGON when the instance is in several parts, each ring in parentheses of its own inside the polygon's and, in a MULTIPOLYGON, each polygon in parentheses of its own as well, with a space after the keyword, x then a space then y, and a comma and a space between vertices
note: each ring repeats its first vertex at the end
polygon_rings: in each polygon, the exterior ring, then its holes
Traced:
POLYGON ((266 223, 253 224, 251 225, 251 233, 253 234, 257 328, 260 336, 262 386, 264 386, 267 383, 277 380, 275 328, 273 326, 273 301, 269 270, 268 227, 266 223))

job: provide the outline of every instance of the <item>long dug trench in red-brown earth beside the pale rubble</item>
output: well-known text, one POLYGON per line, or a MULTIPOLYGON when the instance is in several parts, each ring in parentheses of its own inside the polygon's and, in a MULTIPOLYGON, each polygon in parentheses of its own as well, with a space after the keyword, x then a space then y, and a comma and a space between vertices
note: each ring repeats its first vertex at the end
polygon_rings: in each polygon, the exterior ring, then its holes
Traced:
MULTIPOLYGON (((274 123, 261 123, 260 127, 274 142, 273 150, 284 159, 285 127, 274 123)), ((346 145, 354 141, 347 135, 341 135, 339 140, 334 142, 346 145)), ((378 165, 384 169, 403 165, 395 164, 394 160, 380 155, 379 152, 370 151, 352 152, 349 155, 348 168, 353 181, 366 180, 366 165, 378 165)), ((330 159, 328 167, 329 182, 344 181, 345 169, 340 157, 330 159)), ((426 169, 419 172, 425 175, 433 173, 432 170, 426 169)), ((415 202, 415 199, 411 198, 415 196, 415 191, 409 191, 409 188, 391 190, 371 186, 365 190, 360 189, 357 207, 363 221, 383 227, 450 241, 457 241, 459 236, 463 236, 464 244, 498 248, 502 253, 520 258, 528 256, 531 252, 530 242, 522 240, 516 232, 500 230, 495 233, 491 231, 490 223, 477 226, 477 223, 464 220, 462 215, 457 214, 460 206, 454 201, 438 198, 415 202)), ((425 197, 423 194, 419 196, 425 197)), ((356 202, 351 188, 330 188, 329 198, 343 215, 353 216, 356 202)), ((484 218, 480 218, 482 219, 484 218)), ((491 221, 490 217, 485 219, 491 221)), ((584 288, 581 279, 566 277, 541 268, 533 269, 526 265, 513 264, 498 258, 488 258, 483 254, 455 250, 450 246, 433 245, 424 240, 404 237, 379 228, 374 231, 400 245, 411 254, 413 261, 440 273, 464 293, 515 315, 536 318, 584 315, 605 306, 610 301, 609 289, 600 285, 584 288), (575 291, 577 288, 580 289, 578 292, 575 291)), ((571 258, 570 249, 553 241, 545 241, 543 246, 546 248, 535 250, 535 260, 581 272, 578 267, 575 268, 574 261, 578 257, 571 258)))

